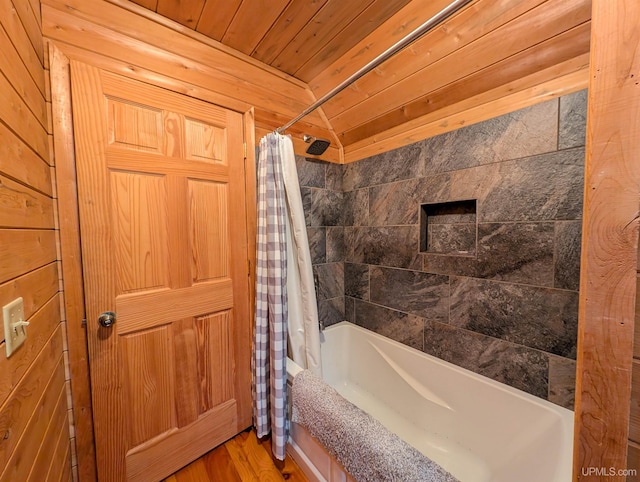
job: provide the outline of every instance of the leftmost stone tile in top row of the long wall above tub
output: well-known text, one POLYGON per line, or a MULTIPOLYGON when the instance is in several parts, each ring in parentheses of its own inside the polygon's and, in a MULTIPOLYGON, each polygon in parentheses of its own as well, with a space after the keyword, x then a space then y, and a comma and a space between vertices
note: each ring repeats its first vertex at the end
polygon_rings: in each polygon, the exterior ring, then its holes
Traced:
POLYGON ((345 191, 353 191, 376 184, 411 179, 419 176, 423 170, 422 146, 415 143, 345 164, 342 182, 345 191))

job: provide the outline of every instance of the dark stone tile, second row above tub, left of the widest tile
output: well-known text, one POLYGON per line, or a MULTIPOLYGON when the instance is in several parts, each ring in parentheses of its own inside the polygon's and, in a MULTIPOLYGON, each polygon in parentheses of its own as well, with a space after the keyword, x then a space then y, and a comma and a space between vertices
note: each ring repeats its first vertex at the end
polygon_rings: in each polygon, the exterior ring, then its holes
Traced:
POLYGON ((445 321, 449 315, 449 277, 371 267, 373 303, 430 320, 445 321))

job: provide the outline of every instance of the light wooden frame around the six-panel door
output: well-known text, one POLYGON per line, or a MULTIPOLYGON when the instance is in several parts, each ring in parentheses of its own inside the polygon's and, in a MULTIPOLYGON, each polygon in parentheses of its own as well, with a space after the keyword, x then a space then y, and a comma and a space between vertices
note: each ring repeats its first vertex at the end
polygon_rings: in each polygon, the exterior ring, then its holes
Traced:
MULTIPOLYGON (((69 62, 76 58, 67 52, 64 46, 53 41, 48 42, 49 69, 52 92, 53 150, 56 167, 56 197, 58 203, 60 258, 62 262, 62 287, 64 292, 64 308, 66 311, 69 367, 71 377, 71 394, 73 401, 73 418, 75 423, 76 456, 78 474, 82 482, 97 480, 95 442, 93 438, 93 413, 89 377, 89 354, 87 348, 87 332, 83 320, 84 284, 82 278, 82 256, 80 249, 80 220, 78 217, 78 191, 76 184, 76 162, 73 143, 73 122, 71 111, 71 78, 69 62)), ((97 54, 96 54, 97 55, 97 54)), ((91 63, 90 59, 80 58, 82 62, 91 63)), ((111 69, 119 75, 123 74, 124 64, 112 59, 102 58, 110 64, 111 69)), ((162 77, 162 76, 161 76, 162 77)), ((132 76, 134 80, 140 80, 132 76)), ((175 85, 176 79, 165 78, 166 85, 175 85)), ((185 84, 184 91, 189 88, 185 84)), ((174 90, 178 94, 184 92, 174 90)), ((212 95, 217 95, 212 92, 212 95)), ((219 96, 218 96, 219 97, 219 96)), ((208 102, 207 99, 199 99, 208 102)), ((221 107, 234 110, 229 106, 221 107)), ((244 141, 247 146, 255 145, 254 111, 241 112, 243 115, 244 141)), ((256 159, 253 148, 246 149, 245 155, 245 194, 247 200, 247 245, 251 266, 255 266, 256 246, 256 213, 250 207, 256 205, 256 159)), ((249 283, 249 299, 254 299, 255 270, 251 270, 249 283)), ((254 306, 250 303, 249 319, 253 319, 254 306)))

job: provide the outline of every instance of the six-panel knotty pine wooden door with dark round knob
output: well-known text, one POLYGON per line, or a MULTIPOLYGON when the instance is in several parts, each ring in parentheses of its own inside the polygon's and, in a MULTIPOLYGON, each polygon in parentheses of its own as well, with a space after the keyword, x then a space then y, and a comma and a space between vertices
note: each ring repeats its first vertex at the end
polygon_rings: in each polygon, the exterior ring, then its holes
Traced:
POLYGON ((251 425, 243 119, 71 80, 98 475, 158 480, 251 425))

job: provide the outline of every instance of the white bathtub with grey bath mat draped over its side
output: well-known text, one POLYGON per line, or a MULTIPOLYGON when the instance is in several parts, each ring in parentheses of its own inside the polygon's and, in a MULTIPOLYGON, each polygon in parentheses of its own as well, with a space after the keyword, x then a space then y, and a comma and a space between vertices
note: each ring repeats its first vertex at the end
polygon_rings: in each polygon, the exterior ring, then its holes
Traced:
MULTIPOLYGON (((462 482, 571 480, 573 412, 352 323, 323 333, 325 381, 462 482)), ((300 368, 289 360, 294 376, 300 368)), ((292 424, 311 480, 345 480, 292 424)))

